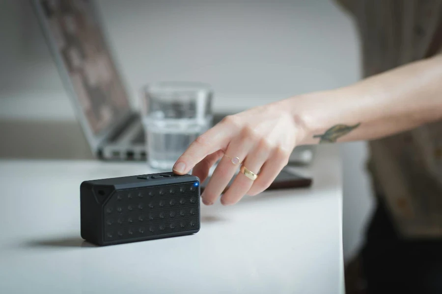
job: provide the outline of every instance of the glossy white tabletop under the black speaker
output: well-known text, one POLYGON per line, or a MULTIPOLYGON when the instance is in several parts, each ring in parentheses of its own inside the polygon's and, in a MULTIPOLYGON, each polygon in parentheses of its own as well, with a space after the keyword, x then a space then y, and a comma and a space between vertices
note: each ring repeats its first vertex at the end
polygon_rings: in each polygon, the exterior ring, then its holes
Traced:
POLYGON ((310 189, 202 206, 197 234, 95 247, 80 237, 80 183, 145 164, 0 161, 0 293, 343 293, 337 148, 298 171, 310 189))

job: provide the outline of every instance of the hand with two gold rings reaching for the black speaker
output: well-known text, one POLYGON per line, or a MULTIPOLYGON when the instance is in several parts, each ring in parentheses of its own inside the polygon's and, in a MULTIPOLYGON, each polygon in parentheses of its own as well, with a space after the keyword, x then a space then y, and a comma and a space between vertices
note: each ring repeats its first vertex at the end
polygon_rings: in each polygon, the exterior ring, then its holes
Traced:
POLYGON ((193 175, 203 182, 221 158, 201 196, 206 205, 213 204, 221 195, 240 165, 259 173, 254 181, 238 173, 221 197, 223 205, 235 204, 244 195, 256 195, 270 186, 287 165, 303 133, 282 102, 251 108, 227 116, 199 136, 177 160, 173 171, 185 174, 193 169, 193 175))

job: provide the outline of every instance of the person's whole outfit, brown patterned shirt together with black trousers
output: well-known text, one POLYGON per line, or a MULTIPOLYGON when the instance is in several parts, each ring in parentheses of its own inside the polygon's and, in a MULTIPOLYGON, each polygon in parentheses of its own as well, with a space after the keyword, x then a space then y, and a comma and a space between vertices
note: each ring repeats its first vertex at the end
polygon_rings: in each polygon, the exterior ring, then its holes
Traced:
MULTIPOLYGON (((442 0, 337 1, 358 28, 363 77, 442 53, 435 43, 442 0)), ((346 267, 347 294, 442 294, 442 121, 374 140, 369 148, 380 196, 366 244, 346 267)))

